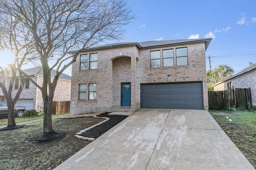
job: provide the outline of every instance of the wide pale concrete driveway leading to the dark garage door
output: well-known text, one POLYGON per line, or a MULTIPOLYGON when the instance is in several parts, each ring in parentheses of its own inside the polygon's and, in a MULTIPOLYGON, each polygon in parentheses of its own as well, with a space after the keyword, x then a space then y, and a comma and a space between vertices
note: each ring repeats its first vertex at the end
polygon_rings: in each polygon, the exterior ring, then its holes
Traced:
POLYGON ((56 170, 254 170, 208 111, 140 109, 56 170))

